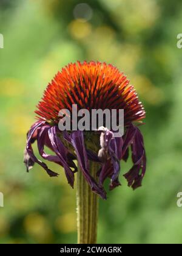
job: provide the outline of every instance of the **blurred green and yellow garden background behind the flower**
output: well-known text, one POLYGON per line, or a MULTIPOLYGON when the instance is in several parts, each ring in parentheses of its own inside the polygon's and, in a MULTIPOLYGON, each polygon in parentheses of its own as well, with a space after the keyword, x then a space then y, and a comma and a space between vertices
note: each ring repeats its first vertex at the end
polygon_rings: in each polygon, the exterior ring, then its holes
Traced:
POLYGON ((75 190, 22 163, 35 105, 58 69, 76 60, 112 63, 146 108, 143 187, 99 201, 98 243, 181 243, 181 0, 1 0, 0 243, 76 243, 75 190), (80 5, 85 3, 84 5, 80 5), (87 5, 86 5, 87 4, 87 5))

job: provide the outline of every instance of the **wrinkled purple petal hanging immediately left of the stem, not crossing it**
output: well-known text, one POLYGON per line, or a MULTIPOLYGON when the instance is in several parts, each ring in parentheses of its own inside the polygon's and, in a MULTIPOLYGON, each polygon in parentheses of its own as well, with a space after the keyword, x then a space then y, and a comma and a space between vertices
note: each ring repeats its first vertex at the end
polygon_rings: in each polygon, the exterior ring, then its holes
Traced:
POLYGON ((67 149, 60 140, 60 138, 57 135, 58 128, 56 126, 53 126, 49 129, 49 139, 52 143, 53 151, 56 153, 56 155, 59 157, 59 161, 61 162, 62 166, 64 167, 64 171, 67 177, 68 183, 73 188, 74 185, 74 174, 72 169, 70 168, 69 164, 67 163, 67 149))

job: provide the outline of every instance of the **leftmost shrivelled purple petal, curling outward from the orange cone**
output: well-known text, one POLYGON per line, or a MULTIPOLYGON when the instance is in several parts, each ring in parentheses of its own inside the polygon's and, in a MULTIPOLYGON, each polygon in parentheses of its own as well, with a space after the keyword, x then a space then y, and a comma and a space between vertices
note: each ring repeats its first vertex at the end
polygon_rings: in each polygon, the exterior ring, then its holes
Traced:
MULTIPOLYGON (((27 154, 29 155, 29 157, 31 158, 32 160, 32 163, 38 163, 40 166, 42 166, 42 168, 45 169, 45 171, 47 172, 47 174, 49 174, 50 177, 53 177, 53 176, 58 176, 58 173, 56 172, 53 172, 52 170, 50 170, 47 165, 42 162, 41 160, 39 160, 38 158, 35 157, 35 154, 33 153, 33 149, 32 149, 32 139, 33 141, 34 140, 34 136, 35 136, 35 133, 37 132, 38 134, 38 129, 42 126, 44 126, 45 122, 37 122, 35 123, 29 130, 29 133, 27 135, 27 146, 26 146, 26 151, 27 151, 27 154)), ((27 169, 30 169, 31 166, 28 166, 30 164, 30 160, 29 162, 26 163, 27 165, 27 169)))

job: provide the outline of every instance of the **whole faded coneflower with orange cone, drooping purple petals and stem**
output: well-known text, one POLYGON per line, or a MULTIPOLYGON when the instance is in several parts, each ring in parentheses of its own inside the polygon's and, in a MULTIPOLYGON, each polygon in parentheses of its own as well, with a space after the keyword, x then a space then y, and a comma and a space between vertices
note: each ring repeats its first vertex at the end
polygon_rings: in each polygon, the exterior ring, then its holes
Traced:
POLYGON ((50 177, 58 174, 39 160, 32 149, 37 141, 42 158, 64 168, 67 181, 74 185, 77 172, 78 243, 96 243, 98 195, 106 199, 104 180, 110 179, 110 190, 121 185, 120 160, 132 152, 133 166, 124 177, 129 187, 140 187, 146 171, 143 136, 138 129, 145 118, 143 105, 129 80, 112 65, 101 62, 76 62, 58 72, 44 91, 35 111, 36 121, 27 133, 24 163, 27 171, 38 163, 50 177), (115 137, 107 127, 95 131, 59 130, 59 111, 76 104, 78 110, 106 108, 124 110, 124 135, 115 137), (44 151, 52 149, 53 155, 44 151), (75 164, 77 160, 78 165, 75 164))

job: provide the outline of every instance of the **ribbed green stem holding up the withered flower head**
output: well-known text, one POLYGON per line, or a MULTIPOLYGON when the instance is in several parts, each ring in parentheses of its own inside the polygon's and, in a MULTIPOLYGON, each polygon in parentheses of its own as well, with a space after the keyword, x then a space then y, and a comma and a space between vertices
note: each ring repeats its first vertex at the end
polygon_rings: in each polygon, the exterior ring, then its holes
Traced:
MULTIPOLYGON (((98 164, 89 162, 90 175, 96 179, 98 164)), ((78 244, 96 244, 98 222, 98 195, 93 193, 83 172, 77 173, 77 227, 78 244)))

